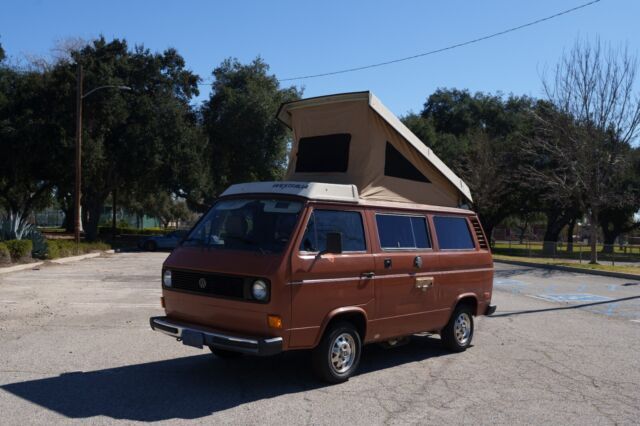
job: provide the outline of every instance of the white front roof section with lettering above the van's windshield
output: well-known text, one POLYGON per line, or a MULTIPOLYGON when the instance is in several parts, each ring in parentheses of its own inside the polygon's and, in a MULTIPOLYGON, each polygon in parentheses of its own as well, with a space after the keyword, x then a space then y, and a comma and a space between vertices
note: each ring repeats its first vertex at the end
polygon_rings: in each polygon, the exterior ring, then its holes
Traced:
POLYGON ((250 182, 231 185, 222 196, 239 194, 286 194, 311 200, 343 201, 357 203, 358 188, 355 185, 318 182, 250 182))

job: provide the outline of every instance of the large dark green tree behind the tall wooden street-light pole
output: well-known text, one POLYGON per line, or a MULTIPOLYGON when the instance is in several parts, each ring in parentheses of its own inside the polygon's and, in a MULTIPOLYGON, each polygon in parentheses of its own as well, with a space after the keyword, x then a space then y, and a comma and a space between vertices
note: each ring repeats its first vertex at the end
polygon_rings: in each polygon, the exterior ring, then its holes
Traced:
MULTIPOLYGON (((198 94, 198 76, 185 68, 174 50, 133 50, 125 40, 103 37, 72 51, 53 69, 64 93, 67 137, 58 194, 72 194, 75 71, 84 70, 85 93, 103 85, 126 85, 131 91, 100 90, 84 100, 82 207, 86 236, 97 237, 105 200, 125 191, 137 194, 169 190, 190 196, 203 179, 203 149, 197 117, 189 102, 198 94)), ((67 204, 68 205, 68 204, 67 204)))

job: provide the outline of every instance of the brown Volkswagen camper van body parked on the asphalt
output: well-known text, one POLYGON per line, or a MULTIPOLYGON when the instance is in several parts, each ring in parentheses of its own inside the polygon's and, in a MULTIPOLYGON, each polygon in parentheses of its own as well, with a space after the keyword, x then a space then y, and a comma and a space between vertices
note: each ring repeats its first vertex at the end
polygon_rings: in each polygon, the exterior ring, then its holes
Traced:
MULTIPOLYGON (((454 352, 494 312, 493 262, 465 209, 363 200, 354 185, 233 185, 164 262, 151 327, 220 357, 313 350, 329 382, 362 346, 418 332, 454 352)), ((393 356, 390 354, 389 356, 393 356)))

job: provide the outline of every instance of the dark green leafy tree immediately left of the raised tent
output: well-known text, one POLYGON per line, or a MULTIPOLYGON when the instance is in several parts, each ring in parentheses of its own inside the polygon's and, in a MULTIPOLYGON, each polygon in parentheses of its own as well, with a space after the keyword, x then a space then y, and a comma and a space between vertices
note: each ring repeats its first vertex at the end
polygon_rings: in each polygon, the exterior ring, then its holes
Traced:
POLYGON ((202 107, 210 198, 233 183, 277 180, 284 174, 289 133, 276 113, 301 91, 281 88, 268 71, 260 58, 247 65, 227 59, 213 71, 213 91, 202 107))

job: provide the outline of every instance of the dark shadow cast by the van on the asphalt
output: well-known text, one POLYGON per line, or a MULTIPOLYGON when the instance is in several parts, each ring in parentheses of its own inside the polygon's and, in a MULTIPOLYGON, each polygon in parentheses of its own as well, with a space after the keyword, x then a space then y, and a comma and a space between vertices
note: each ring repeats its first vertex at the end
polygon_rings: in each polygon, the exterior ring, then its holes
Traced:
MULTIPOLYGON (((440 340, 414 337, 402 347, 365 347, 359 374, 445 355, 440 340)), ((352 379, 354 380, 354 379, 352 379)), ((357 380, 357 378, 355 378, 357 380)), ((324 386, 307 352, 225 361, 211 354, 11 383, 1 388, 74 419, 195 419, 247 402, 324 386)))

